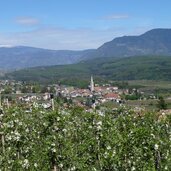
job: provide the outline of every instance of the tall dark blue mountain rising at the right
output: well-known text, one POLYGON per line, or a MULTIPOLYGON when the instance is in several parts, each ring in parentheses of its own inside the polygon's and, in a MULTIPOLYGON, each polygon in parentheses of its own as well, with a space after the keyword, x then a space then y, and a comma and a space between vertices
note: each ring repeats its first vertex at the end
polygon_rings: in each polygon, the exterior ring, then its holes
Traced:
POLYGON ((171 55, 171 29, 153 29, 140 36, 115 38, 88 54, 85 59, 137 55, 171 55))

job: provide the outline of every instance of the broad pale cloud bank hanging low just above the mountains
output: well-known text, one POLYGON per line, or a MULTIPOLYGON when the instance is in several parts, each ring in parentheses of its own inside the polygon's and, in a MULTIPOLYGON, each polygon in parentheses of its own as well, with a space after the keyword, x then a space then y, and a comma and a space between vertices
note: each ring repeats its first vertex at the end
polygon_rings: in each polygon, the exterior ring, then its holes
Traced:
POLYGON ((120 27, 108 29, 46 27, 30 32, 0 33, 0 43, 56 50, 82 50, 98 48, 115 37, 130 35, 132 32, 143 33, 142 30, 127 30, 127 28, 120 27))

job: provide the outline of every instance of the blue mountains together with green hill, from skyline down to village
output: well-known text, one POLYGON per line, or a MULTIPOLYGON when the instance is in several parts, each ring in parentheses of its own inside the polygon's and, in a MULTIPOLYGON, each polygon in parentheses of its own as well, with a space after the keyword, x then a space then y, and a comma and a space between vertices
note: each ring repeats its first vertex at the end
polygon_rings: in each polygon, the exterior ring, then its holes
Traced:
POLYGON ((5 79, 72 85, 92 74, 110 80, 171 80, 171 29, 116 38, 95 50, 0 48, 0 60, 2 69, 21 69, 5 79))

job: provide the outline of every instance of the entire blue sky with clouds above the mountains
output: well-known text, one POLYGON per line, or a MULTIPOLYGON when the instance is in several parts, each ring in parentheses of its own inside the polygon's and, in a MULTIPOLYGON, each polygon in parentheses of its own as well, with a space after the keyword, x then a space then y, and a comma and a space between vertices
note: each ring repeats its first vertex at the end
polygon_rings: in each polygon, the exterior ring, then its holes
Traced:
POLYGON ((0 0, 0 47, 94 49, 171 28, 171 0, 0 0))

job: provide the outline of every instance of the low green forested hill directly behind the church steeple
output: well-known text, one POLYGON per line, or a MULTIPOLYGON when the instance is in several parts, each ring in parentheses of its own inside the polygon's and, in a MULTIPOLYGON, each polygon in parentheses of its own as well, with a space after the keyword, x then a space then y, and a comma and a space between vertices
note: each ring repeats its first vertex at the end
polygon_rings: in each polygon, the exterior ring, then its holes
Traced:
POLYGON ((99 58, 78 64, 36 67, 8 73, 6 78, 25 81, 89 79, 90 75, 111 80, 171 80, 171 57, 135 56, 99 58))

